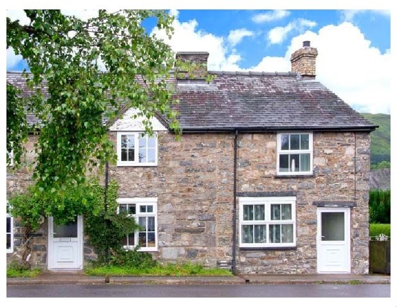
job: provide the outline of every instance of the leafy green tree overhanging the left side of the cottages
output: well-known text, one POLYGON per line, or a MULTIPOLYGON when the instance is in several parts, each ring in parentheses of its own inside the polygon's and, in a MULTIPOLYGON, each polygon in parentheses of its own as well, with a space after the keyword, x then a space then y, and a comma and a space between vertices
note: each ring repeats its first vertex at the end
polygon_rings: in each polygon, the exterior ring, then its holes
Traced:
POLYGON ((35 92, 23 101, 7 84, 7 151, 13 150, 18 165, 27 136, 23 110, 30 110, 41 120, 33 172, 38 190, 62 193, 84 182, 86 165, 102 169, 114 161, 103 117, 115 118, 122 107, 140 110, 149 133, 157 111, 180 132, 165 81, 173 53, 142 27, 152 18, 171 36, 172 16, 161 10, 99 10, 84 21, 60 10, 24 11, 29 25, 7 17, 6 43, 27 61, 28 85, 35 92))

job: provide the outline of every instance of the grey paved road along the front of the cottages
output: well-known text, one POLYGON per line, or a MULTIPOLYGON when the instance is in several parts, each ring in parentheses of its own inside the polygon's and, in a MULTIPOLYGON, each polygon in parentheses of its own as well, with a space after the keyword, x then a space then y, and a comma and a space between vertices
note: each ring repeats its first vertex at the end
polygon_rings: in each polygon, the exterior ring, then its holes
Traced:
POLYGON ((390 298, 390 285, 23 285, 7 286, 7 297, 390 298))

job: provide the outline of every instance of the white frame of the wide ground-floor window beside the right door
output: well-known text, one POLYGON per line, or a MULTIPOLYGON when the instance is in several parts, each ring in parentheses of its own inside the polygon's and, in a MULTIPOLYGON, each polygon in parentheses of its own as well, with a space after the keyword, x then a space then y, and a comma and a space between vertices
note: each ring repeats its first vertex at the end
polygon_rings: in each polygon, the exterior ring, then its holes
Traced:
MULTIPOLYGON (((281 214, 281 211, 280 211, 281 214)), ((281 218, 281 216, 280 216, 281 218)), ((280 230, 281 239, 281 230, 280 230)), ((239 246, 240 247, 296 247, 296 197, 239 197, 239 246), (244 221, 244 205, 265 205, 265 220, 244 221), (291 220, 270 220, 271 204, 291 204, 291 220), (293 242, 292 243, 270 243, 269 242, 269 225, 293 225, 293 242), (242 226, 243 225, 266 225, 266 243, 243 243, 242 226)))

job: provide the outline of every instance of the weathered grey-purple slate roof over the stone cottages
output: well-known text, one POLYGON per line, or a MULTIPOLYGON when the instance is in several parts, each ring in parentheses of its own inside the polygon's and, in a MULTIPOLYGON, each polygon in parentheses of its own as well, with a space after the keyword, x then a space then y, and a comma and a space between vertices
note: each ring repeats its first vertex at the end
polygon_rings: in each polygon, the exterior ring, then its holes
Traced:
MULTIPOLYGON (((296 73, 209 71, 214 79, 176 81, 179 122, 189 130, 374 130, 327 87, 296 73)), ((7 82, 29 94, 20 73, 7 82)), ((160 116, 161 117, 161 116, 160 116)), ((29 117, 34 122, 35 118, 29 117)), ((162 118, 162 121, 166 119, 162 118)))

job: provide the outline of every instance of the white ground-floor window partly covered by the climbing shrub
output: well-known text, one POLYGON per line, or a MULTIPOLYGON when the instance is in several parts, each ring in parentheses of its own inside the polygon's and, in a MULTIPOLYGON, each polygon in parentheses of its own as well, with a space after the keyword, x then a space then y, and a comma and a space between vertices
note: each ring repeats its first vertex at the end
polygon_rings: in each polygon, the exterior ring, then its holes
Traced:
POLYGON ((157 250, 157 198, 118 198, 118 212, 127 211, 140 226, 140 230, 129 234, 123 239, 125 248, 134 248, 139 244, 139 250, 157 250))

